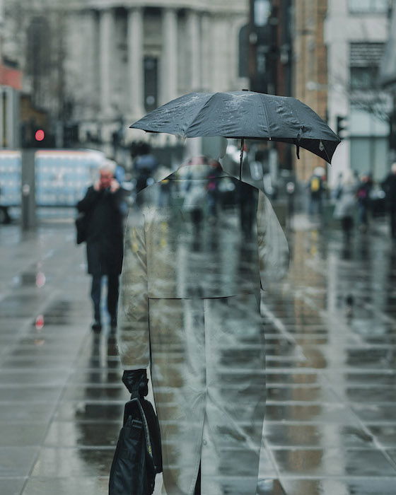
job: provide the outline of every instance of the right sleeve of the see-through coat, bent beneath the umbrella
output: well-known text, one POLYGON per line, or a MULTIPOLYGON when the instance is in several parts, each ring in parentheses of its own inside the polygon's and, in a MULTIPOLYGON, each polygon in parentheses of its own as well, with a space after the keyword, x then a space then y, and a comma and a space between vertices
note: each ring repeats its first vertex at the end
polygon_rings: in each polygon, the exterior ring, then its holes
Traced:
POLYGON ((289 245, 267 196, 260 191, 257 205, 260 283, 281 280, 289 269, 289 245))

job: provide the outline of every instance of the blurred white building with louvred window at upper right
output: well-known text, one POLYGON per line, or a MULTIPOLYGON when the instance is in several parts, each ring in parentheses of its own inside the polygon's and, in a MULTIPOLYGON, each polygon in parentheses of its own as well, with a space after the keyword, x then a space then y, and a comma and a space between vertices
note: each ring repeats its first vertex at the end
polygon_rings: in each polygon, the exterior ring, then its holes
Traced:
POLYGON ((329 168, 330 184, 351 168, 382 180, 389 168, 389 96, 378 74, 388 37, 388 0, 328 0, 327 117, 343 141, 329 168))

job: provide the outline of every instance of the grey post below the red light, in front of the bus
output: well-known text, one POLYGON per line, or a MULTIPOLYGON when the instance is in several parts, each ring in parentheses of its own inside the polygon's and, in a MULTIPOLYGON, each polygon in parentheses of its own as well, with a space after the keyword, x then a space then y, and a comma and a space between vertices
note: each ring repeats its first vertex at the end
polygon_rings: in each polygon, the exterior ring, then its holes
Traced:
POLYGON ((21 185, 21 227, 29 231, 36 226, 34 149, 22 150, 21 185))

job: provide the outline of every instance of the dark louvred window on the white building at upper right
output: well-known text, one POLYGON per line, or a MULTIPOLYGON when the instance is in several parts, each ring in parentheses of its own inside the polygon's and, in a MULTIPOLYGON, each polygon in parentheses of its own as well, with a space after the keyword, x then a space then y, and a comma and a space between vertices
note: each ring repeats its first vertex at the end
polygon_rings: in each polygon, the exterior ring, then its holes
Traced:
POLYGON ((377 86, 383 43, 351 43, 349 86, 351 90, 373 90, 377 86))

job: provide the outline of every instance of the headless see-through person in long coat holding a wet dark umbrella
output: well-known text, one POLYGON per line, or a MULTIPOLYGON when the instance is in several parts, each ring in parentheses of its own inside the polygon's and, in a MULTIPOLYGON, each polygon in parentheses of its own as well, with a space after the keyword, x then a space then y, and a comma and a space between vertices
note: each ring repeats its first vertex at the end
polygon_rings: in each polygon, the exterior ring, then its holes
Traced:
MULTIPOLYGON (((339 144, 295 98, 251 91, 184 95, 131 127, 241 139, 241 169, 244 139, 289 142, 298 156, 306 148, 329 162, 339 144)), ((224 155, 222 142, 211 158, 224 155)), ((238 180, 211 163, 192 158, 166 177, 168 206, 157 206, 159 182, 139 192, 129 214, 117 327, 122 381, 132 397, 145 395, 151 371, 166 494, 255 495, 266 398, 260 289, 286 274, 289 248, 264 193, 240 180, 242 170, 238 180), (234 192, 215 210, 213 180, 219 192, 234 192), (181 204, 180 191, 191 194, 181 204), (242 215, 244 198, 251 204, 242 215)))

